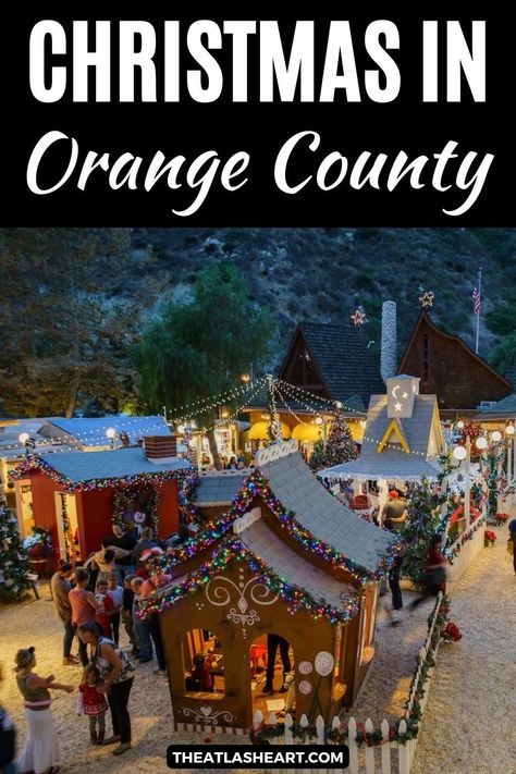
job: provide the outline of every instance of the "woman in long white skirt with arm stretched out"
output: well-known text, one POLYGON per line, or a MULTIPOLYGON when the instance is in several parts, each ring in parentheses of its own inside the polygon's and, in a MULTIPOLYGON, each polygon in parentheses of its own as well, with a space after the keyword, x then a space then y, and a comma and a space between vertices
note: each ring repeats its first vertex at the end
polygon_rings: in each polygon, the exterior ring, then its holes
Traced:
POLYGON ((61 749, 50 703, 51 690, 72 693, 74 687, 56 683, 54 676, 40 677, 36 667, 35 648, 21 648, 15 656, 16 684, 25 704, 27 738, 17 761, 20 772, 54 774, 61 765, 61 749))

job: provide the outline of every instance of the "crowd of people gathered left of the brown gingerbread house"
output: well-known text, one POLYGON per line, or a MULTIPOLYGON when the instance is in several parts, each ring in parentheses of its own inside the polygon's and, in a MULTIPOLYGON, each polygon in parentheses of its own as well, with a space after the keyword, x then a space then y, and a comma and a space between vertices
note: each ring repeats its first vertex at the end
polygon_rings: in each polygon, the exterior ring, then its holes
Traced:
MULTIPOLYGON (((134 661, 146 663, 156 658, 153 674, 167 675, 158 614, 149 619, 137 616, 138 602, 171 579, 157 562, 163 552, 151 529, 144 529, 137 541, 124 528, 114 525, 113 537, 103 538, 100 549, 84 565, 74 568, 69 562, 60 562, 50 588, 63 626, 63 665, 82 667, 82 677, 77 685, 58 683, 53 674, 44 677, 35 671, 36 649, 17 651, 15 674, 25 707, 27 737, 14 769, 12 728, 12 755, 11 761, 2 761, 3 773, 56 774, 59 770, 60 745, 50 710, 54 690, 77 692, 77 714, 89 718, 91 744, 118 742, 113 749, 115 755, 131 748, 127 703, 134 681, 134 661), (121 623, 131 652, 120 648, 121 623), (72 654, 75 639, 76 655, 72 654), (110 736, 106 733, 108 709, 112 724, 110 736)), ((0 722, 3 730, 8 720, 1 712, 0 722)))

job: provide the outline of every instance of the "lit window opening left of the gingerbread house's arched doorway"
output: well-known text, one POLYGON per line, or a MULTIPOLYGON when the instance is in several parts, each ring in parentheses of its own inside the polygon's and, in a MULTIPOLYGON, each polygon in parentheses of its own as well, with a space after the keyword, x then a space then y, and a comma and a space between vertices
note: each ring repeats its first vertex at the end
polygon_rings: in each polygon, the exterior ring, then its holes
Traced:
POLYGON ((183 638, 185 692, 225 693, 224 655, 213 631, 191 629, 183 638))

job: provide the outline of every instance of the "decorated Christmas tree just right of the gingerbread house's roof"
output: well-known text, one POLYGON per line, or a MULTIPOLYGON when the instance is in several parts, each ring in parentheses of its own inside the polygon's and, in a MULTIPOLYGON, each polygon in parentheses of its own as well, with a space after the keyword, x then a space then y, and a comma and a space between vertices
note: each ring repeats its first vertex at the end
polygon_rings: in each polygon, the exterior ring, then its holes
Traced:
POLYGON ((421 579, 431 539, 443 531, 442 503, 442 496, 435 492, 433 483, 426 479, 415 486, 407 499, 408 518, 401 533, 408 550, 403 560, 402 574, 415 583, 421 579))

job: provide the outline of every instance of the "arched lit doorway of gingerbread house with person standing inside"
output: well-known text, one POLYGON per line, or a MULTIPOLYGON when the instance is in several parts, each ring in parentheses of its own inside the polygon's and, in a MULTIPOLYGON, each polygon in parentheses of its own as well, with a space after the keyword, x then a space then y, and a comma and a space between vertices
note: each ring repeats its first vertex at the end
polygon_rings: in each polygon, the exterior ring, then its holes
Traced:
POLYGON ((273 712, 279 721, 295 711, 294 652, 290 642, 271 632, 257 637, 249 648, 253 716, 273 712))

